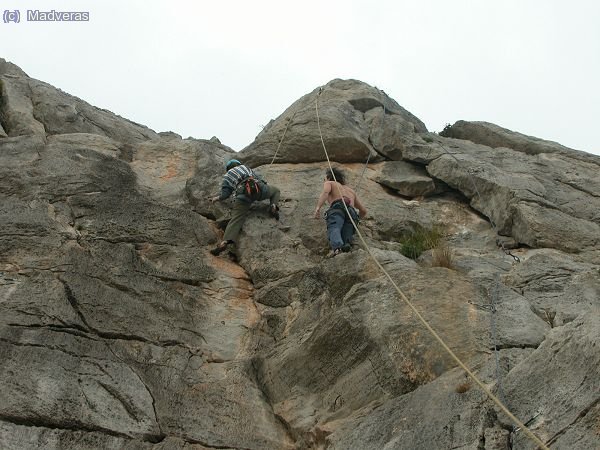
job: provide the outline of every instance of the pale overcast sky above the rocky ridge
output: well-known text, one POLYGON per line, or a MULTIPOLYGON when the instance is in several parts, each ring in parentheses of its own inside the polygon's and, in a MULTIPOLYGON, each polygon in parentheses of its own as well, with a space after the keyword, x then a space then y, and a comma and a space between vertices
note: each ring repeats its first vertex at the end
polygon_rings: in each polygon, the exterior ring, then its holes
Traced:
POLYGON ((0 0, 0 56, 89 103, 235 150, 334 78, 430 131, 484 120, 600 154, 596 0, 0 0), (27 9, 89 22, 27 22, 27 9))

